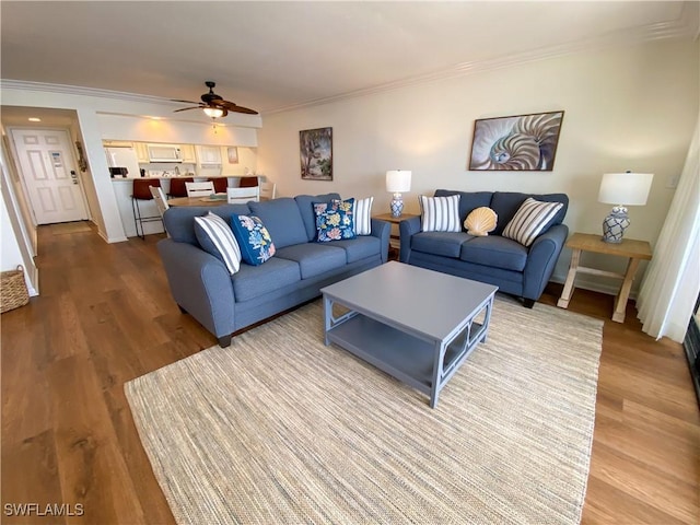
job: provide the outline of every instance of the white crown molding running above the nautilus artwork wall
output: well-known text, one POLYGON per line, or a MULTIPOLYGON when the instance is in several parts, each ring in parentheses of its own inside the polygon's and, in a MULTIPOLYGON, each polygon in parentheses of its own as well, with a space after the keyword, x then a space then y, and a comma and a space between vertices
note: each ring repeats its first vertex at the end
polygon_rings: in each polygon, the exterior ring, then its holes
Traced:
POLYGON ((312 106, 319 106, 323 104, 329 104, 332 102, 340 102, 349 98, 357 98, 360 96, 372 95, 376 93, 383 93, 387 91, 394 91, 401 88, 407 88, 417 84, 438 82, 441 80, 448 80, 467 74, 479 73, 485 71, 494 71, 498 69, 510 68, 515 66, 523 66, 540 60, 549 60, 552 58, 559 58, 567 55, 574 55, 587 50, 600 50, 614 46, 621 45, 639 45, 645 42, 664 40, 664 39, 680 39, 680 38, 697 38, 698 35, 698 7, 700 2, 686 2, 684 5, 681 15, 672 22, 660 22, 656 24, 650 24, 644 27, 637 27, 623 32, 611 32, 605 35, 597 36, 595 38, 588 38, 585 40, 572 42, 558 46, 548 46, 539 49, 524 51, 521 54, 509 55, 504 57, 497 57, 487 60, 475 60, 469 62, 459 62, 448 68, 433 71, 425 74, 419 74, 415 77, 408 77, 395 82, 387 82, 381 85, 374 85, 362 90, 351 91, 348 93, 341 93, 338 95, 315 98, 313 101, 303 102, 300 104, 292 104, 275 109, 264 112, 265 115, 272 115, 276 113, 290 112, 294 109, 302 109, 312 106), (696 23, 693 23, 696 21, 696 23))

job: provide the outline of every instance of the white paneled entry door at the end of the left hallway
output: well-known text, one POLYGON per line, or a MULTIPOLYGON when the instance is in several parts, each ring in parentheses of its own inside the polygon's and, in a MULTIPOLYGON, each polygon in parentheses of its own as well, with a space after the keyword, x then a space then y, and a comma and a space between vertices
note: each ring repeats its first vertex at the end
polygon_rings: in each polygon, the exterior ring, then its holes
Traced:
POLYGON ((88 219, 70 138, 65 129, 11 129, 37 224, 88 219))

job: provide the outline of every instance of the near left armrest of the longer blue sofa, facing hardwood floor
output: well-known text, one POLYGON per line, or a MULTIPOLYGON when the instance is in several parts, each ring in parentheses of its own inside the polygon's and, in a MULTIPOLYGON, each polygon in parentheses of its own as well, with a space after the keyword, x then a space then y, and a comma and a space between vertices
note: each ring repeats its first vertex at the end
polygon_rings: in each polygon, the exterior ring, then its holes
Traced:
POLYGON ((234 294, 224 264, 197 246, 172 238, 159 241, 175 302, 217 337, 234 330, 234 294))

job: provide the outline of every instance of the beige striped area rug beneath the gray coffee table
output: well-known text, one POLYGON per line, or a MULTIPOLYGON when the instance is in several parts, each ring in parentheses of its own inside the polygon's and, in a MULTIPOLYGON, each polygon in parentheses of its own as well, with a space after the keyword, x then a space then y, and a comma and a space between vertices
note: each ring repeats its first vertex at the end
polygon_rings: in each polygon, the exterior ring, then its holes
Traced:
POLYGON ((581 520, 603 323, 498 299, 428 397, 323 345, 317 301, 129 382, 178 523, 581 520))

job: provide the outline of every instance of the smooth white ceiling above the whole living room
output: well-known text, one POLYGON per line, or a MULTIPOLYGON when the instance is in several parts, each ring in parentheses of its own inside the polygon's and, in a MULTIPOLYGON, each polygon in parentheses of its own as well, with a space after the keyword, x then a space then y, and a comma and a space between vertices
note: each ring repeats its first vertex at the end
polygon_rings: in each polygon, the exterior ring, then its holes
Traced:
POLYGON ((0 2, 1 78, 261 113, 610 42, 697 35, 698 3, 0 2))

